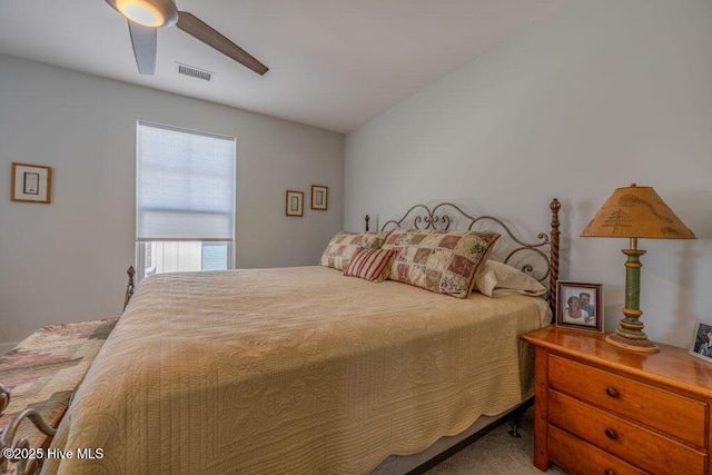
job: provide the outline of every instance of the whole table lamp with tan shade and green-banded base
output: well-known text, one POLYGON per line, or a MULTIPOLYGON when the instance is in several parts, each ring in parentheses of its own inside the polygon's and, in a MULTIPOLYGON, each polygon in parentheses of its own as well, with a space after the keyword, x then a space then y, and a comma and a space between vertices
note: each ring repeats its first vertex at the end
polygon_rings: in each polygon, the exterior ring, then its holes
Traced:
POLYGON ((630 249, 623 249, 625 261, 625 307, 623 318, 615 333, 605 337, 612 345, 641 353, 660 352, 657 345, 647 339, 643 324, 639 320, 641 293, 641 256, 644 250, 637 248, 637 238, 651 239, 696 239, 675 216, 672 209, 651 187, 619 188, 603 204, 582 237, 625 237, 630 239, 630 249))

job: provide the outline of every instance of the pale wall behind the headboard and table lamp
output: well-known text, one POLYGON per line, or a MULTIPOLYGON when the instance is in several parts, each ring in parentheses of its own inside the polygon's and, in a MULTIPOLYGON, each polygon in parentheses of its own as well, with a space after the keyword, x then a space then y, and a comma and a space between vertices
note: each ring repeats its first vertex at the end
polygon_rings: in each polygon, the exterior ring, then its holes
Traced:
POLYGON ((580 238, 616 187, 653 186, 698 235, 641 240, 642 321, 688 346, 712 320, 712 2, 572 0, 346 137, 346 228, 452 200, 546 230, 562 210, 562 278, 624 303, 625 239, 580 238))

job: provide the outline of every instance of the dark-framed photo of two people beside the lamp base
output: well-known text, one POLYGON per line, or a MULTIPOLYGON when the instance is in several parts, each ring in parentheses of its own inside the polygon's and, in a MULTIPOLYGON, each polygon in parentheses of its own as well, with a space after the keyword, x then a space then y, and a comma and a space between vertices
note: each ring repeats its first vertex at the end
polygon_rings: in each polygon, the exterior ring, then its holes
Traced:
POLYGON ((603 333, 603 286, 560 281, 556 326, 603 333))

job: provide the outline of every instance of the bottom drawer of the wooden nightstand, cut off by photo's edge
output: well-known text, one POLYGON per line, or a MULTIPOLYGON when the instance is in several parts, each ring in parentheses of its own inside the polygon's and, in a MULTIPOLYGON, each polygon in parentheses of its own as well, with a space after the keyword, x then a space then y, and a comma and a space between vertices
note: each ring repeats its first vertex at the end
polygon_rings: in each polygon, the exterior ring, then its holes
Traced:
POLYGON ((548 426, 548 452, 557 464, 586 475, 644 475, 645 472, 554 426, 548 426))

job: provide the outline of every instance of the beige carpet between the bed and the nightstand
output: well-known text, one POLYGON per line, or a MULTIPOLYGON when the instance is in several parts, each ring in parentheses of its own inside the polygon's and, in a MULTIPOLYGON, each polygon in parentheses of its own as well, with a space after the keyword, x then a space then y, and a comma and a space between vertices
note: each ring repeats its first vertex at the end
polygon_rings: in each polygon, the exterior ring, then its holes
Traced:
MULTIPOLYGON (((541 475, 532 464, 534 454, 534 408, 530 407, 520 420, 522 437, 512 437, 506 422, 484 437, 463 448, 426 472, 427 475, 541 475)), ((552 465, 546 474, 562 475, 566 472, 552 465)))

